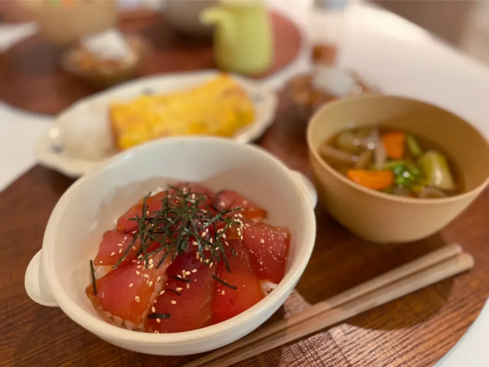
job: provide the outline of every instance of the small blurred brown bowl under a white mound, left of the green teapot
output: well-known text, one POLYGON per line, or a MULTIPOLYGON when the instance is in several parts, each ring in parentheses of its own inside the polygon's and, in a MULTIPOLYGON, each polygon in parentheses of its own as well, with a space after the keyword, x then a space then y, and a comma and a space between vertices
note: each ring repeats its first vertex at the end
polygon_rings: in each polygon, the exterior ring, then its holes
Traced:
POLYGON ((82 45, 69 49, 61 58, 61 67, 92 87, 104 89, 134 77, 151 51, 149 43, 141 36, 124 35, 133 54, 124 60, 99 60, 82 45))

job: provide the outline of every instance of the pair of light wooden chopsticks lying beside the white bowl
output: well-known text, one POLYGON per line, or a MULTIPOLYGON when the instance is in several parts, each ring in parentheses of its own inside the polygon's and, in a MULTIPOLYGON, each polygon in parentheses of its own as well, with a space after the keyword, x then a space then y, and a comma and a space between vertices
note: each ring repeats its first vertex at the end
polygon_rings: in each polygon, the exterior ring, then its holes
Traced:
POLYGON ((442 247, 183 367, 227 367, 467 271, 473 266, 474 259, 464 253, 460 245, 442 247))

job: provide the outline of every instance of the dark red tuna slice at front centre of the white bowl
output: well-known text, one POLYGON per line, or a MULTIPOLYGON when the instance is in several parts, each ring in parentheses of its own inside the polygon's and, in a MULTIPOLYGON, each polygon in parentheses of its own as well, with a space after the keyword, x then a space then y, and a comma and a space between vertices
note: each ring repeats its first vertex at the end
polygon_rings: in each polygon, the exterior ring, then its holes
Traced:
POLYGON ((215 283, 212 274, 216 264, 209 267, 196 255, 192 249, 178 256, 168 268, 166 290, 160 292, 149 314, 169 314, 170 318, 148 319, 147 331, 180 332, 211 324, 215 283))

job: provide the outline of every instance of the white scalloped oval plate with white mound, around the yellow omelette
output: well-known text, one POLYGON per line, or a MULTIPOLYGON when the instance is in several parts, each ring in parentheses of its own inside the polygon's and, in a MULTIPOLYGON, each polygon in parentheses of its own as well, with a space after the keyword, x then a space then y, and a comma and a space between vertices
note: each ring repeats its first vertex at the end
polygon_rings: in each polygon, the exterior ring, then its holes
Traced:
MULTIPOLYGON (((172 73, 149 76, 80 99, 62 111, 36 146, 36 158, 46 167, 69 177, 83 176, 116 153, 113 147, 108 106, 129 100, 146 91, 168 93, 185 90, 212 79, 220 71, 172 73)), ((277 94, 261 83, 237 75, 233 77, 250 94, 256 111, 252 124, 239 130, 233 139, 249 143, 258 139, 274 121, 277 94)))

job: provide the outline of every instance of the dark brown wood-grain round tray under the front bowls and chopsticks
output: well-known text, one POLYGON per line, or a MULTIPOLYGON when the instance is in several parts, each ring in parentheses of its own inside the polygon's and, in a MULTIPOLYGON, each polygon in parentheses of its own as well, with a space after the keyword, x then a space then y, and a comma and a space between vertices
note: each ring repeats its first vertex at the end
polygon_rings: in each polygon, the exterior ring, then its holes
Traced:
MULTIPOLYGON (((189 59, 191 56, 189 50, 189 59)), ((22 96, 17 98, 20 102, 22 96)), ((258 143, 290 168, 311 176, 305 128, 305 122, 282 98, 275 123, 258 143)), ((0 193, 0 366, 171 367, 195 358, 149 356, 120 349, 79 327, 59 308, 40 306, 26 295, 25 269, 41 248, 52 208, 72 182, 36 166, 0 193)), ((489 191, 485 191, 441 233, 424 241, 389 246, 355 238, 318 206, 314 253, 296 290, 273 320, 447 243, 460 243, 474 256, 475 268, 239 366, 434 364, 467 331, 489 296, 488 206, 489 191)))

